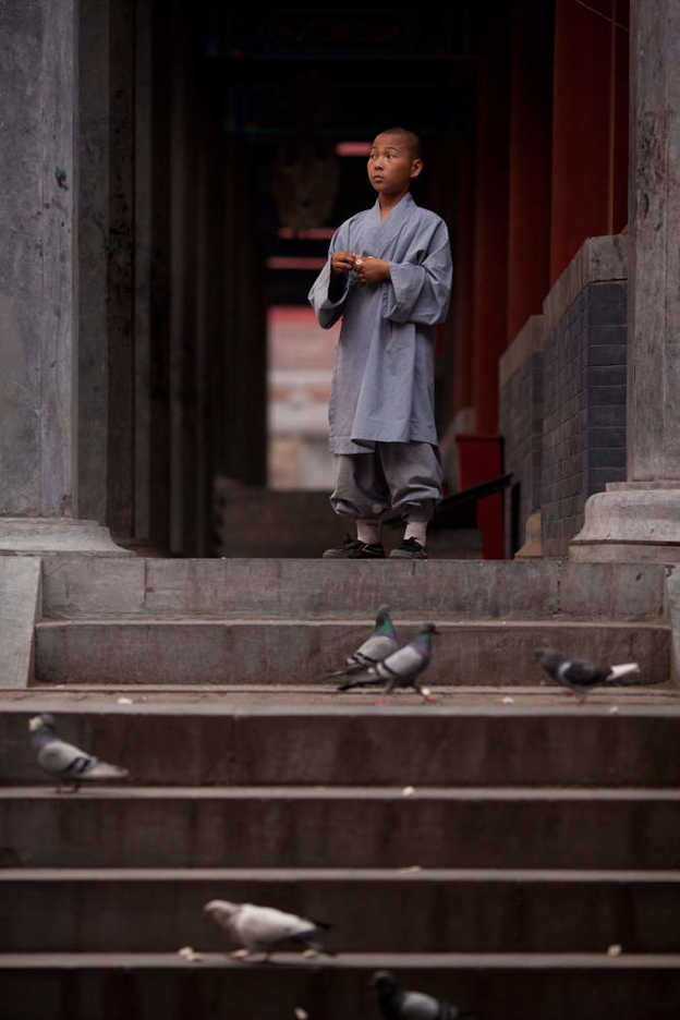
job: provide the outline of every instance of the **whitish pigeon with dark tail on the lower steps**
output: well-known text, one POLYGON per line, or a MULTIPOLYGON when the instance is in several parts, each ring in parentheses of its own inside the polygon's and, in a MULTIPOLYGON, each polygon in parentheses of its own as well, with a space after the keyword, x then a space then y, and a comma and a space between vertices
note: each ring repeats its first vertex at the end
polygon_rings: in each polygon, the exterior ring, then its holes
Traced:
POLYGON ((316 938, 321 930, 330 927, 323 921, 299 918, 276 907, 230 903, 228 900, 210 900, 203 909, 244 947, 232 952, 233 957, 243 959, 250 952, 259 951, 265 954, 263 959, 266 960, 270 952, 287 942, 299 943, 307 949, 332 956, 316 938))

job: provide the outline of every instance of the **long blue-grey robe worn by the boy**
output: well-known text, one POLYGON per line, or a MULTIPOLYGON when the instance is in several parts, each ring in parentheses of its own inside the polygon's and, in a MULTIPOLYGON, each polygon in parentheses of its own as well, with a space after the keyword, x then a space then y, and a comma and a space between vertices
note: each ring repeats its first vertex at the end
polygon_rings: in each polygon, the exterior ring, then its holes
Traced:
POLYGON ((324 329, 343 317, 328 409, 333 453, 365 453, 375 442, 437 445, 434 327, 450 292, 446 223, 411 194, 382 222, 376 201, 338 228, 308 294, 324 329), (391 279, 361 283, 351 271, 329 294, 336 251, 386 259, 391 279))

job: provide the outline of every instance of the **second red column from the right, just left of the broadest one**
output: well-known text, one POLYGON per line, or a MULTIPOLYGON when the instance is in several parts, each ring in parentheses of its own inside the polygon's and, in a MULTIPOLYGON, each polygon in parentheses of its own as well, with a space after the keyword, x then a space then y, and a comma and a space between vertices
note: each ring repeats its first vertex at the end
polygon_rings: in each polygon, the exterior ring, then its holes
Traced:
POLYGON ((550 287, 551 4, 515 0, 511 25, 508 343, 550 287))

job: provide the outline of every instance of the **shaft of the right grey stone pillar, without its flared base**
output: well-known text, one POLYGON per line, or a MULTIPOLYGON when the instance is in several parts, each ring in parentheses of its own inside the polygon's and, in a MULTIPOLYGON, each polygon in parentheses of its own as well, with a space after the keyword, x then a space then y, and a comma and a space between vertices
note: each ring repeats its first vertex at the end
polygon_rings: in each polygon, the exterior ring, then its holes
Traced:
MULTIPOLYGON (((628 478, 680 483, 680 5, 631 3, 628 478)), ((680 487, 680 486, 679 486, 680 487)), ((680 520, 678 534, 680 542, 680 520)))

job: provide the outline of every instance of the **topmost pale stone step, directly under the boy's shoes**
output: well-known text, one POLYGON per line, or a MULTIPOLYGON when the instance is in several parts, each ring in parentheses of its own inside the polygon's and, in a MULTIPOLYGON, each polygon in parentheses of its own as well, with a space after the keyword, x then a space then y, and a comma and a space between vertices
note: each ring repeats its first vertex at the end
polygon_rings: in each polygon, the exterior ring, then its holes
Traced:
POLYGON ((653 620, 665 614, 656 564, 561 560, 142 559, 47 557, 49 618, 397 616, 653 620))

